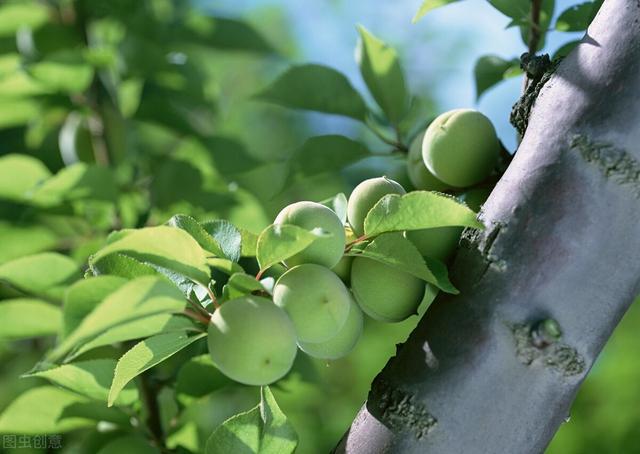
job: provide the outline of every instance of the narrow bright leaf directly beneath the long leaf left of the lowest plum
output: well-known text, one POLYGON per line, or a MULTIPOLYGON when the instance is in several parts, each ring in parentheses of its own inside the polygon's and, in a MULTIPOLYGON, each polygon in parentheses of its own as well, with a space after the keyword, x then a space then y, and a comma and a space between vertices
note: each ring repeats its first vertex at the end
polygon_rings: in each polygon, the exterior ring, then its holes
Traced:
POLYGON ((131 322, 109 328, 104 333, 94 337, 89 342, 84 342, 67 356, 67 361, 71 361, 80 355, 105 345, 118 344, 120 342, 134 339, 144 339, 160 333, 170 333, 174 331, 195 331, 191 320, 187 317, 171 314, 159 314, 144 317, 131 322))

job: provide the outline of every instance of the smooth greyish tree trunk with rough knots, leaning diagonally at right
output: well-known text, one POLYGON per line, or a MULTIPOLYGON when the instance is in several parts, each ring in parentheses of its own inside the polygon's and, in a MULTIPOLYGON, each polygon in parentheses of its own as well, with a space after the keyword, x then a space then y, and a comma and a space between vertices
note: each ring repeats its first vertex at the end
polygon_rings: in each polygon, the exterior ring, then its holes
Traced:
POLYGON ((441 294, 336 452, 540 453, 640 284, 640 1, 538 96, 441 294))

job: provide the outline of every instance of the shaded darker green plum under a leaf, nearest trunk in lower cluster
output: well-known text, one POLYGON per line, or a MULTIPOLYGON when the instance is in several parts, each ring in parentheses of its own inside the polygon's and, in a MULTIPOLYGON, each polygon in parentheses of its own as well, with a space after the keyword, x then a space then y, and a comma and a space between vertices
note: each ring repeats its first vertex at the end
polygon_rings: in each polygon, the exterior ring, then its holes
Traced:
POLYGON ((409 273, 365 257, 351 267, 351 289, 365 314, 383 322, 400 322, 416 313, 424 282, 409 273))

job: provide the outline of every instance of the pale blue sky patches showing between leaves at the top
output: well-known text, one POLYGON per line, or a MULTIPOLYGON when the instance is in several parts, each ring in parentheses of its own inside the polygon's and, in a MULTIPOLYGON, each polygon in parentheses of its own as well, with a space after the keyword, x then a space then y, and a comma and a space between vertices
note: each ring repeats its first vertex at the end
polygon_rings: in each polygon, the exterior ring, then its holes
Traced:
MULTIPOLYGON (((505 58, 519 56, 525 47, 516 28, 505 29, 509 19, 485 0, 465 0, 434 10, 417 24, 411 18, 421 0, 218 0, 211 10, 227 16, 259 20, 256 10, 282 8, 296 38, 300 62, 332 66, 365 91, 354 62, 356 24, 399 49, 414 92, 428 89, 440 108, 474 107, 488 115, 508 148, 515 147, 509 124, 511 105, 521 81, 514 78, 475 101, 473 65, 485 54, 505 58)), ((556 0, 556 16, 576 1, 556 0)), ((580 34, 551 32, 546 51, 553 52, 580 34)), ((320 119, 319 128, 337 132, 341 119, 320 119)), ((325 132, 325 131, 320 131, 325 132)))

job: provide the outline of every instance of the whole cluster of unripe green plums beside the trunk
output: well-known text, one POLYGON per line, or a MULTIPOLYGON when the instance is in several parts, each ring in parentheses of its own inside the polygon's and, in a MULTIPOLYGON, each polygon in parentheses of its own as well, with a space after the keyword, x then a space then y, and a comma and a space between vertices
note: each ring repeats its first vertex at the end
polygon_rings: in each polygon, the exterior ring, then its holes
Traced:
MULTIPOLYGON (((498 152, 495 130, 484 115, 451 111, 411 145, 409 176, 416 189, 473 186, 493 171, 498 152)), ((364 241, 369 210, 387 194, 405 193, 386 177, 363 181, 349 197, 346 226, 319 203, 285 207, 274 224, 320 229, 327 235, 286 260, 272 298, 246 295, 215 311, 209 324, 214 364, 235 381, 265 385, 291 369, 298 349, 325 360, 347 355, 362 334, 364 314, 389 323, 416 314, 425 295, 424 281, 365 256, 345 255, 347 244, 364 241)), ((487 195, 487 190, 471 189, 460 198, 477 209, 487 195)), ((405 235, 422 255, 446 261, 460 233, 460 228, 443 227, 405 235)))

